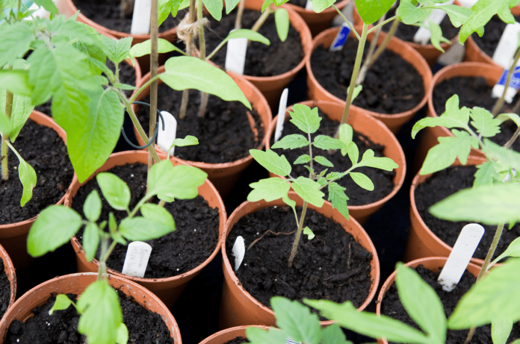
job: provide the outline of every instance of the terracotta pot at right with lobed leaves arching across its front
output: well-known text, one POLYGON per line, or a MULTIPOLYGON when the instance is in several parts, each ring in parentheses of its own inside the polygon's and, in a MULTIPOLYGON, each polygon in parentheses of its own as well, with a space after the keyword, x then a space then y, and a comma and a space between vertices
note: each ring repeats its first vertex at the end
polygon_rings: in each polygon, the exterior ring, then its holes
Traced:
MULTIPOLYGON (((428 90, 428 110, 427 115, 430 117, 437 117, 438 114, 435 112, 433 107, 433 89, 440 82, 459 76, 483 76, 486 78, 486 82, 489 86, 495 85, 500 76, 502 75, 503 68, 497 67, 498 65, 486 64, 481 62, 462 62, 457 64, 452 64, 444 67, 437 73, 432 80, 432 86, 428 90)), ((428 127, 421 130, 421 137, 419 141, 419 148, 415 153, 414 160, 414 172, 418 171, 422 163, 424 162, 424 158, 426 154, 434 145, 439 143, 437 138, 439 136, 453 136, 451 131, 445 127, 437 126, 437 127, 428 127)), ((471 154, 476 156, 484 157, 484 153, 481 150, 476 150, 474 148, 471 149, 471 154)))

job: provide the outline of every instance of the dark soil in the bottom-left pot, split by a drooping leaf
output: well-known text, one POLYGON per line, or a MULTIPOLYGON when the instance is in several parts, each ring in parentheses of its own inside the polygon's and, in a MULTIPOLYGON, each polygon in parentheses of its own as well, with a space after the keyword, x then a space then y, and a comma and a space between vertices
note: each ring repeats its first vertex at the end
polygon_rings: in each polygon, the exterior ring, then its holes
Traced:
MULTIPOLYGON (((123 311, 123 323, 128 329, 128 342, 134 344, 173 344, 174 340, 164 320, 157 313, 147 311, 139 305, 133 297, 125 296, 118 290, 119 302, 123 311)), ((72 300, 77 295, 67 294, 72 300)), ((15 320, 9 326, 5 343, 60 343, 82 344, 85 336, 77 332, 77 323, 80 315, 74 306, 66 310, 55 311, 49 315, 56 296, 49 297, 48 301, 33 310, 34 317, 25 323, 15 320)))

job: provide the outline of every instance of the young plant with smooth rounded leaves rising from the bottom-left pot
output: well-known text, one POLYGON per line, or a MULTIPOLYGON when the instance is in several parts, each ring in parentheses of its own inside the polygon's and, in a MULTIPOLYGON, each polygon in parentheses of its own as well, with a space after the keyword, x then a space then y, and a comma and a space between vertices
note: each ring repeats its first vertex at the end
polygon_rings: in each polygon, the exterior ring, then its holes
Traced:
POLYGON ((89 343, 126 344, 128 333, 122 322, 118 295, 108 283, 106 261, 117 243, 126 245, 127 240, 151 240, 174 231, 172 215, 163 207, 147 201, 153 196, 168 202, 193 199, 206 177, 206 173, 196 167, 173 167, 171 161, 162 161, 151 167, 148 191, 130 209, 130 190, 126 183, 110 173, 98 174, 96 179, 107 202, 112 208, 124 210, 128 214, 119 224, 112 212, 108 219, 99 222, 101 199, 95 190, 88 195, 83 205, 86 220, 75 210, 62 205, 43 210, 27 238, 27 249, 31 256, 40 257, 55 250, 68 242, 82 226, 85 226, 82 244, 87 260, 92 261, 98 246, 101 248, 97 281, 85 289, 76 304, 67 296, 58 295, 50 313, 66 309, 72 303, 81 314, 78 330, 87 336, 89 343), (137 215, 139 211, 141 216, 137 215))

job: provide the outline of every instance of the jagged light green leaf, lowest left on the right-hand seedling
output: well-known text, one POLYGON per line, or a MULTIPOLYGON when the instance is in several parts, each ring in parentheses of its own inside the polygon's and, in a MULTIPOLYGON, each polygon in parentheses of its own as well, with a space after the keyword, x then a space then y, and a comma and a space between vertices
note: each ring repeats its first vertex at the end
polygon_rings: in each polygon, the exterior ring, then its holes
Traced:
POLYGON ((478 139, 465 131, 451 130, 455 137, 438 137, 439 144, 428 151, 420 174, 427 175, 451 166, 458 157, 462 165, 467 162, 471 147, 477 149, 478 139))

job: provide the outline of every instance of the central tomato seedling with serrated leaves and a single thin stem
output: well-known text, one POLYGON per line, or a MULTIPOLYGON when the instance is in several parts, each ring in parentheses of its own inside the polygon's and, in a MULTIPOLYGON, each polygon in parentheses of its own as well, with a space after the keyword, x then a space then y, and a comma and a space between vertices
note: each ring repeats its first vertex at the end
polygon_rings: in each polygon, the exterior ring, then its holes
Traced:
POLYGON ((293 105, 291 115, 291 122, 302 130, 306 136, 293 134, 287 135, 281 138, 278 142, 272 145, 272 148, 283 148, 283 149, 295 149, 308 147, 309 154, 304 154, 294 161, 294 164, 309 164, 305 166, 309 170, 309 176, 293 178, 291 177, 291 164, 287 161, 284 155, 278 155, 274 151, 268 149, 267 151, 259 151, 252 149, 250 150, 253 158, 262 166, 264 166, 270 172, 279 175, 287 176, 288 179, 282 179, 280 177, 272 177, 268 179, 262 179, 258 182, 250 184, 253 190, 248 195, 248 201, 256 202, 259 200, 274 201, 282 199, 283 202, 289 205, 294 212, 296 220, 296 236, 294 239, 293 247, 291 250, 291 256, 289 257, 289 266, 292 265, 294 256, 296 255, 298 242, 302 232, 311 234, 311 230, 306 227, 303 228, 303 221, 305 213, 307 211, 308 204, 312 204, 316 207, 323 205, 323 196, 325 195, 321 189, 327 187, 329 191, 329 201, 332 202, 333 208, 336 208, 340 213, 348 219, 347 200, 348 197, 345 194, 345 188, 342 187, 336 180, 350 175, 350 177, 363 189, 373 190, 374 185, 370 178, 359 172, 353 172, 357 167, 370 166, 375 168, 381 168, 387 171, 391 171, 394 168, 399 167, 391 158, 388 157, 376 157, 374 151, 371 149, 367 150, 361 161, 359 160, 359 150, 356 144, 352 141, 352 128, 345 124, 343 128, 345 131, 350 131, 350 136, 345 135, 345 139, 333 139, 325 135, 318 135, 311 140, 310 134, 313 134, 318 130, 320 126, 321 118, 318 115, 318 108, 310 109, 306 105, 295 104, 293 105), (348 129, 350 127, 350 129, 348 129), (350 161, 352 161, 352 167, 342 172, 331 172, 327 174, 327 169, 316 173, 313 165, 318 163, 326 167, 334 167, 334 165, 327 160, 326 157, 321 155, 313 155, 313 147, 331 150, 341 149, 342 154, 348 154, 350 161), (303 209, 300 219, 296 214, 296 202, 289 199, 288 192, 293 189, 303 199, 303 209))

